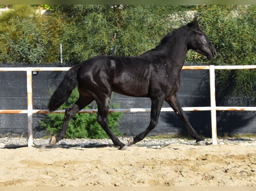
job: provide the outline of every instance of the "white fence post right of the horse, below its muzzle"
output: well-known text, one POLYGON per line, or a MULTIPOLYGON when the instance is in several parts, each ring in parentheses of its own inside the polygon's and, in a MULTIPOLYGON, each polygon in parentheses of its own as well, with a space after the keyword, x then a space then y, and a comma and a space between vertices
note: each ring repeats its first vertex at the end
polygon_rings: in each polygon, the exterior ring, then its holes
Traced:
POLYGON ((217 144, 217 118, 216 118, 214 65, 210 66, 210 95, 211 95, 212 139, 213 139, 213 145, 216 145, 217 144))

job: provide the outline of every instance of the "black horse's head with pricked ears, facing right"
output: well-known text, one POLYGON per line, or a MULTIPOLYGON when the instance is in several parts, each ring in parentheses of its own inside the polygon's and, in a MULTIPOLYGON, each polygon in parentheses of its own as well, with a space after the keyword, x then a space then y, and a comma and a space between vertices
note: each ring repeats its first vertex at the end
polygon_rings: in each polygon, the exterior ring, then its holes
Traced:
POLYGON ((216 49, 206 34, 198 26, 199 20, 197 20, 196 16, 192 22, 186 25, 186 27, 189 27, 190 31, 187 48, 188 50, 192 49, 197 51, 198 53, 206 56, 209 60, 214 59, 217 56, 216 49))

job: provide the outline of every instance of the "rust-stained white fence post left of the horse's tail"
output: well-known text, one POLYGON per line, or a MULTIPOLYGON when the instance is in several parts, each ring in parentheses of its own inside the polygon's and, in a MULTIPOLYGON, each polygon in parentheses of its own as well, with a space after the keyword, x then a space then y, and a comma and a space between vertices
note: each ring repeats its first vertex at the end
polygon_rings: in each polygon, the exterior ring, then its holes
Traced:
POLYGON ((32 68, 27 68, 27 129, 28 129, 28 147, 33 144, 32 128, 33 102, 32 102, 32 68))

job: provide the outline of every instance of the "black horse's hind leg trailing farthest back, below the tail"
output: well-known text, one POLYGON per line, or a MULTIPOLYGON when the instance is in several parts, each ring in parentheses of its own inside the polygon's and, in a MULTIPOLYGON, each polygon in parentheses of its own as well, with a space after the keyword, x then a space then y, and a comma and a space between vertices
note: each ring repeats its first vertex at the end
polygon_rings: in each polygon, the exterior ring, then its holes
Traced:
POLYGON ((83 109, 85 106, 89 105, 94 99, 92 97, 82 97, 80 96, 76 103, 72 105, 71 107, 68 107, 65 110, 65 116, 62 123, 62 128, 60 129, 59 133, 55 136, 52 136, 49 145, 53 145, 59 140, 63 139, 65 137, 69 121, 74 117, 74 115, 83 109))

